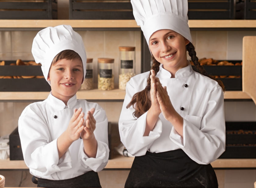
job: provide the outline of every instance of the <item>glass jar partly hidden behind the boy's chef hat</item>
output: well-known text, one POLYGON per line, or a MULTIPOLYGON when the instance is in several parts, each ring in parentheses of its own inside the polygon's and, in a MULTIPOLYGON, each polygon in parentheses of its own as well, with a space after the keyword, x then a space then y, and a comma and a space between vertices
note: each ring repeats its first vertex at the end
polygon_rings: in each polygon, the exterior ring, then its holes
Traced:
POLYGON ((84 82, 80 86, 79 90, 91 90, 93 89, 93 63, 92 58, 87 58, 86 61, 86 75, 84 82))

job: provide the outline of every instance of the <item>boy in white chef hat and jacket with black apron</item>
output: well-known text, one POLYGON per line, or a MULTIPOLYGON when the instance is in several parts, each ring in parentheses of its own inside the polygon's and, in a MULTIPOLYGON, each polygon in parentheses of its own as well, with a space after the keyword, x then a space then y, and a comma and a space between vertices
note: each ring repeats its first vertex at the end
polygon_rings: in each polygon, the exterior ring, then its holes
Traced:
POLYGON ((46 188, 101 187, 97 172, 108 162, 108 119, 97 103, 76 99, 86 74, 82 37, 69 25, 48 27, 34 38, 32 53, 52 88, 19 119, 32 181, 46 188))

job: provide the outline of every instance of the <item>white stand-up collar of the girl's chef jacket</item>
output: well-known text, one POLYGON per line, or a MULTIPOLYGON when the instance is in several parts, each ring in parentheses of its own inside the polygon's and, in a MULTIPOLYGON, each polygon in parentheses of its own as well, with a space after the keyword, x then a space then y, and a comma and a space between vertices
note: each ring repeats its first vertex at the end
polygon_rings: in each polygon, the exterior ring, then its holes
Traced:
MULTIPOLYGON (((175 78, 183 78, 183 77, 191 75, 194 72, 194 70, 192 69, 190 62, 188 60, 187 60, 187 64, 188 64, 188 66, 186 66, 176 72, 175 78)), ((165 70, 163 68, 163 65, 161 64, 159 72, 157 73, 157 77, 160 80, 162 80, 162 79, 171 78, 172 74, 169 71, 165 70)))

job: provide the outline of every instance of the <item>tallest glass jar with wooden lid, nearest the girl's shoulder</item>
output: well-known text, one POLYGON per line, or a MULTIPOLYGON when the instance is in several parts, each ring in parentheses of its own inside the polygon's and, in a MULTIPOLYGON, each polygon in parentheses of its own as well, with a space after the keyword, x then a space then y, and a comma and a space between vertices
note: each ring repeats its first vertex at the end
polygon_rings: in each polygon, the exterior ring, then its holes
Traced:
POLYGON ((119 89, 125 90, 127 82, 135 76, 135 47, 119 47, 119 89))

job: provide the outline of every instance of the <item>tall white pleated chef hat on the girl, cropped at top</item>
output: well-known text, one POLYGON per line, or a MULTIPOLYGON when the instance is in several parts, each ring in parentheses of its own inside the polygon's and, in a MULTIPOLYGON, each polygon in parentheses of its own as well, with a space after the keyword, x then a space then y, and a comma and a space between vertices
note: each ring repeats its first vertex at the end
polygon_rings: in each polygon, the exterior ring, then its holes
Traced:
POLYGON ((187 0, 131 0, 133 15, 146 38, 160 29, 171 29, 192 42, 187 0))

